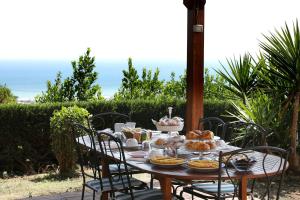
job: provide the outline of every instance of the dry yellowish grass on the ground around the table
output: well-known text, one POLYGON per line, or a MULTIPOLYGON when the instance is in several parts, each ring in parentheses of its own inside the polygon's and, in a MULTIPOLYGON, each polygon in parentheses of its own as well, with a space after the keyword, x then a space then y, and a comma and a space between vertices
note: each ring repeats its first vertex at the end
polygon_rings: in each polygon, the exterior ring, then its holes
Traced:
MULTIPOLYGON (((137 174, 135 178, 149 182, 150 175, 137 174)), ((22 199, 65 192, 81 191, 82 177, 60 179, 56 174, 38 174, 31 176, 0 179, 0 200, 22 199)), ((157 186, 158 183, 156 183, 157 186)), ((259 186, 259 184, 257 184, 259 186)), ((283 184, 281 199, 299 199, 300 176, 289 174, 283 184)))

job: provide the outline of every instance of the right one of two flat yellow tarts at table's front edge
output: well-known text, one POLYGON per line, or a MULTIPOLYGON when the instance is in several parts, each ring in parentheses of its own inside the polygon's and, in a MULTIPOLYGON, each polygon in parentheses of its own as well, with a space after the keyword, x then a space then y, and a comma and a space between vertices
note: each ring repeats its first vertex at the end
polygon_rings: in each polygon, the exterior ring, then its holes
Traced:
POLYGON ((219 162, 215 160, 190 160, 187 166, 192 170, 212 172, 219 169, 219 162))

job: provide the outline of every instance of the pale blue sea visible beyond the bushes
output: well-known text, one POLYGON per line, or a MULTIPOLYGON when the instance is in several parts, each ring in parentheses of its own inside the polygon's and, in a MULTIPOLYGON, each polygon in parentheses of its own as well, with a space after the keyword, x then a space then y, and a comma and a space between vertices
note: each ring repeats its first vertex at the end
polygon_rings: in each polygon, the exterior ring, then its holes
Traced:
MULTIPOLYGON (((98 72, 97 83, 102 88, 104 97, 109 98, 117 92, 121 86, 123 77, 122 70, 127 69, 127 60, 96 60, 95 71, 98 72)), ((151 61, 134 60, 133 65, 139 75, 142 68, 152 69, 157 67, 160 70, 160 79, 169 80, 171 72, 176 73, 176 77, 182 75, 186 68, 186 61, 151 61)), ((218 68, 219 63, 206 62, 205 66, 218 68)), ((64 60, 0 60, 0 85, 9 87, 19 101, 34 100, 34 97, 46 90, 46 82, 54 81, 58 71, 62 76, 67 77, 72 73, 71 61, 64 60)), ((214 72, 214 70, 210 70, 214 72)))

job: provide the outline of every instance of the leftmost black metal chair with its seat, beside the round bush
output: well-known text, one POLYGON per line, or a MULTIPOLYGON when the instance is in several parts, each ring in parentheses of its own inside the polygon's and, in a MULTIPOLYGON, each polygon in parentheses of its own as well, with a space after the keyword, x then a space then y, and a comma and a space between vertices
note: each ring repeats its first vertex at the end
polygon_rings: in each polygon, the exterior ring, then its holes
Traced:
MULTIPOLYGON (((102 192, 113 194, 115 190, 122 188, 123 183, 120 181, 114 180, 110 182, 110 179, 101 176, 101 149, 99 145, 96 145, 97 142, 95 142, 95 133, 93 130, 78 123, 73 123, 72 129, 72 137, 76 144, 77 157, 83 178, 81 199, 84 199, 86 187, 93 191, 93 199, 95 199, 96 192, 100 193, 101 196, 102 192)), ((135 178, 130 177, 129 180, 131 186, 137 189, 147 186, 146 183, 135 178)))

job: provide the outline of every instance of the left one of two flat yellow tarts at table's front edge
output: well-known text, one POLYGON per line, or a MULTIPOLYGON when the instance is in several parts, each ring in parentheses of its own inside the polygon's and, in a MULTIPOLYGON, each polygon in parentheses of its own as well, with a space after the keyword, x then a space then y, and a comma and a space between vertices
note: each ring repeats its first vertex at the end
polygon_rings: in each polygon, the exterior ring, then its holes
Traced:
POLYGON ((170 156, 153 156, 150 158, 150 163, 161 167, 175 167, 184 164, 185 160, 170 156))

